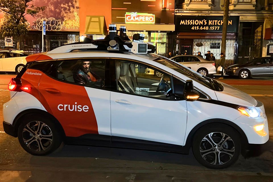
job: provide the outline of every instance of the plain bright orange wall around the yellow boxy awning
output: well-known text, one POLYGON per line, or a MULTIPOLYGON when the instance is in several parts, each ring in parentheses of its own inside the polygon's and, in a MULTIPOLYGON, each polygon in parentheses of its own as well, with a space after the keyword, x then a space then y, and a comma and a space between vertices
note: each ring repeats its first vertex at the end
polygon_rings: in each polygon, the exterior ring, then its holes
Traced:
POLYGON ((111 20, 111 0, 79 0, 80 36, 85 32, 85 18, 87 15, 104 16, 106 25, 111 20))

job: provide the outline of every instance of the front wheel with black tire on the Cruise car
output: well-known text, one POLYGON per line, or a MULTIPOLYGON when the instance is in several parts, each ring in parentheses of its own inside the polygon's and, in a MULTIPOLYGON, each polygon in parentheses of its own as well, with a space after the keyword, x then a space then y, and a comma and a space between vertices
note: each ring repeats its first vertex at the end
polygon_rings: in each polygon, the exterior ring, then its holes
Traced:
POLYGON ((193 154, 196 160, 205 167, 227 168, 236 162, 241 154, 240 135, 235 129, 225 124, 205 125, 198 129, 193 137, 193 154))

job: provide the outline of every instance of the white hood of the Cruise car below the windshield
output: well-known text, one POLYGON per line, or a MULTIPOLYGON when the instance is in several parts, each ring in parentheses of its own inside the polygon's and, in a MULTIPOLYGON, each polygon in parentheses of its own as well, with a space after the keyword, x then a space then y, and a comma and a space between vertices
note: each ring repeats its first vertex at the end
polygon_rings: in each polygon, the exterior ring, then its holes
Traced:
POLYGON ((228 84, 225 84, 223 82, 220 83, 224 86, 224 90, 222 92, 215 91, 215 94, 219 101, 246 107, 257 106, 258 102, 255 98, 228 84))

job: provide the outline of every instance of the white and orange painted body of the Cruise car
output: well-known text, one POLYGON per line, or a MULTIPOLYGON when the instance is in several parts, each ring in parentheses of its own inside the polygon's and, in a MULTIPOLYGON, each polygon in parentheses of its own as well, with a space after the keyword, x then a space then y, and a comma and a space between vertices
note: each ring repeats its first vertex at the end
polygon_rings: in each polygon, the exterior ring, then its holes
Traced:
MULTIPOLYGON (((56 53, 40 54, 40 58, 36 56, 36 61, 32 60, 31 64, 35 65, 35 62, 39 60, 77 60, 79 58, 135 60, 139 64, 154 67, 171 75, 181 82, 193 80, 195 89, 200 94, 204 94, 205 98, 191 102, 128 94, 117 90, 70 84, 67 81, 52 78, 39 69, 26 68, 20 79, 22 84, 31 83, 33 89, 11 92, 11 100, 3 106, 6 133, 12 135, 8 128, 16 129, 15 122, 19 122, 18 117, 22 113, 35 109, 35 111, 54 116, 63 127, 66 137, 80 137, 93 133, 93 135, 111 137, 113 141, 115 137, 121 137, 182 147, 188 145, 193 132, 202 125, 220 122, 234 127, 247 144, 264 144, 269 139, 268 122, 262 103, 222 82, 214 82, 223 86, 222 91, 212 90, 195 77, 189 77, 180 73, 178 69, 175 70, 154 61, 155 59, 171 61, 169 59, 156 54, 141 55, 128 52, 123 54, 108 51, 57 53, 58 48, 54 51, 56 53), (59 94, 60 92, 62 94, 59 94), (72 105, 75 107, 78 105, 78 108, 86 106, 85 108, 88 109, 86 112, 69 111, 65 105, 69 108, 72 105), (237 106, 255 108, 260 113, 259 117, 247 117, 236 109, 237 106), (90 117, 93 119, 85 119, 90 117), (263 125, 262 131, 255 131, 256 125, 263 125)), ((170 63, 176 64, 174 61, 170 63)), ((181 66, 181 69, 195 74, 185 67, 185 64, 181 66)))

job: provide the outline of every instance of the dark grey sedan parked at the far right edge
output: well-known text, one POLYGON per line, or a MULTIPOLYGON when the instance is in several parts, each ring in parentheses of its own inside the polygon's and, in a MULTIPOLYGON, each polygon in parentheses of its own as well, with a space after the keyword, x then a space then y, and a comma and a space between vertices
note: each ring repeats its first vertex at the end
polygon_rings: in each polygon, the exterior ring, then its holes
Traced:
POLYGON ((251 76, 273 76, 273 57, 260 57, 253 61, 231 65, 226 69, 226 75, 239 76, 248 79, 251 76))

